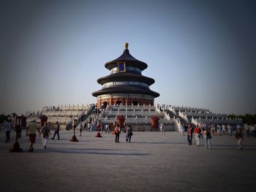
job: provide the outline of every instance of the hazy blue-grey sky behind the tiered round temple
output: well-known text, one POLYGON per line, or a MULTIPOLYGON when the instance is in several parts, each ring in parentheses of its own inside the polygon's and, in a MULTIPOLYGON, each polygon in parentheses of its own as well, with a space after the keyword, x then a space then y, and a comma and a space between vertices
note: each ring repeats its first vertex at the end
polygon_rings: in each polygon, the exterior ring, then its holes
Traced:
POLYGON ((256 111, 255 1, 0 1, 0 16, 0 112, 95 103, 124 42, 155 103, 256 111))

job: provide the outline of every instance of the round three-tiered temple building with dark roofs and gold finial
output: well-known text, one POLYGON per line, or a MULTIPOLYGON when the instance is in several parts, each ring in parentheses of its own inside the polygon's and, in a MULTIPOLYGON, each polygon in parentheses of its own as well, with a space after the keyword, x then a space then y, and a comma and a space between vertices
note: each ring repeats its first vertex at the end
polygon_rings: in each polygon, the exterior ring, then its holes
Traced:
POLYGON ((149 88, 154 79, 141 74, 147 67, 147 64, 129 54, 128 43, 124 43, 124 53, 105 64, 110 74, 97 80, 102 85, 101 90, 92 93, 97 97, 97 107, 114 104, 154 105, 154 98, 159 96, 149 88))

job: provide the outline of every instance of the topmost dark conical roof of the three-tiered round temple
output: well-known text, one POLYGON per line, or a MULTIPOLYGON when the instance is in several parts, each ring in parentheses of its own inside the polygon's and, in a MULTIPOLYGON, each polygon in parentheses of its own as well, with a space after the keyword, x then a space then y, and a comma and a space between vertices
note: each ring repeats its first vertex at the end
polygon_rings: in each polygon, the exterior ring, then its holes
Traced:
POLYGON ((126 62, 127 65, 138 67, 142 71, 148 67, 147 64, 145 64, 142 61, 137 60, 131 54, 129 54, 129 50, 127 47, 124 49, 124 53, 120 57, 116 58, 113 61, 109 61, 108 63, 106 63, 105 68, 111 70, 114 67, 116 67, 117 62, 126 62))

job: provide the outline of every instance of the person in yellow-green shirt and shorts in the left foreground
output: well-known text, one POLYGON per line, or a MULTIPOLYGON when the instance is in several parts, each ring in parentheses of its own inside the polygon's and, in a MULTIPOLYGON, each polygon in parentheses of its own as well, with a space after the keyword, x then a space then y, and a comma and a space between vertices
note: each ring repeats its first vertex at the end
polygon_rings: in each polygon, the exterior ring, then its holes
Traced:
POLYGON ((36 142, 36 137, 37 137, 37 131, 40 134, 39 126, 36 122, 36 120, 31 120, 29 122, 28 127, 26 128, 26 136, 29 136, 29 152, 33 152, 34 150, 34 143, 36 142))

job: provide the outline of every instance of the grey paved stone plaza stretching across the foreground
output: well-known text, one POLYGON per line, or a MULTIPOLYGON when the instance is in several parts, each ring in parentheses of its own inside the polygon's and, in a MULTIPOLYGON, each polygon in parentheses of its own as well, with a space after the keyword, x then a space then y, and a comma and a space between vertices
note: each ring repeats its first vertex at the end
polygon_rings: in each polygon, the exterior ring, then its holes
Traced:
MULTIPOLYGON (((131 143, 114 142, 112 134, 94 137, 72 131, 42 146, 37 135, 34 153, 29 138, 19 140, 23 153, 10 153, 0 133, 0 191, 255 191, 256 139, 245 138, 237 150, 234 137, 213 137, 212 150, 187 145, 178 132, 134 132, 131 143)), ((53 135, 53 132, 52 132, 53 135)), ((52 136, 51 135, 51 136, 52 136)), ((202 142, 203 143, 203 142, 202 142)))

